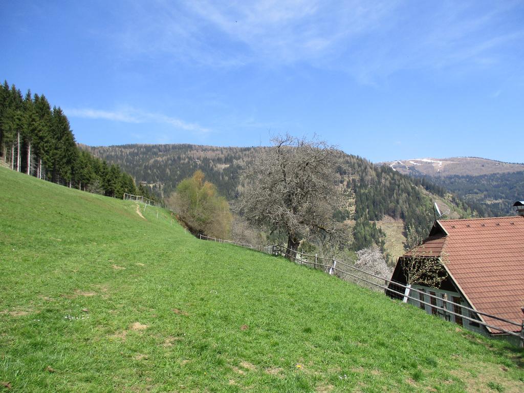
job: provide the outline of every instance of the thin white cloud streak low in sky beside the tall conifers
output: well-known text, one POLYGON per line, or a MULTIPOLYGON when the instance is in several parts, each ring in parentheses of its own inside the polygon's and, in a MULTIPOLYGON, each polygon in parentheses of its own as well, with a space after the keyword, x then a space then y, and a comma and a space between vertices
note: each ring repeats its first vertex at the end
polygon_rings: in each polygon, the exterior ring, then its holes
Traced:
POLYGON ((92 108, 71 108, 64 110, 64 113, 70 117, 104 119, 123 123, 168 124, 173 128, 190 131, 195 134, 208 134, 211 132, 209 128, 202 127, 196 123, 184 122, 177 117, 167 116, 159 113, 144 112, 134 108, 123 108, 116 111, 105 111, 92 108))

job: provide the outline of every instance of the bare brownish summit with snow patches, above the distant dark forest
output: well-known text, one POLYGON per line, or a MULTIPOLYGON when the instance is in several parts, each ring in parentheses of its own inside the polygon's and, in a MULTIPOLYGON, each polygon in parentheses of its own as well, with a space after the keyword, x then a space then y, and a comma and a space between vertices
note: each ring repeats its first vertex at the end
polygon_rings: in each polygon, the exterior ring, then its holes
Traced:
POLYGON ((379 162, 395 171, 412 176, 481 176, 492 173, 511 173, 524 171, 524 164, 509 163, 478 157, 452 158, 412 158, 379 162))

